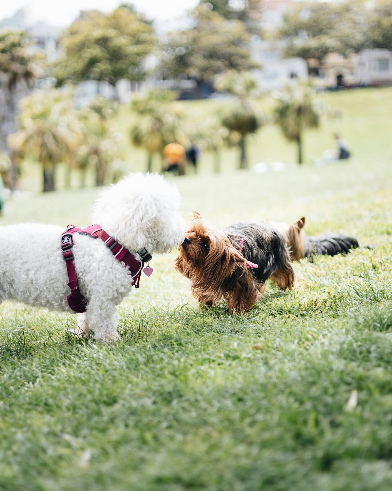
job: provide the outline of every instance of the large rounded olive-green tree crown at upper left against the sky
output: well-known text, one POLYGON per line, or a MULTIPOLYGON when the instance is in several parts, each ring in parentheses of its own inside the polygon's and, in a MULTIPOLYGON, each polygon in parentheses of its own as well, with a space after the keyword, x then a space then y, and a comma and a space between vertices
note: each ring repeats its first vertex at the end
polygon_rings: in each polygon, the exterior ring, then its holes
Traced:
POLYGON ((65 55, 56 63, 57 83, 143 80, 144 61, 155 45, 153 28, 132 7, 123 5, 110 14, 83 12, 61 40, 65 55))

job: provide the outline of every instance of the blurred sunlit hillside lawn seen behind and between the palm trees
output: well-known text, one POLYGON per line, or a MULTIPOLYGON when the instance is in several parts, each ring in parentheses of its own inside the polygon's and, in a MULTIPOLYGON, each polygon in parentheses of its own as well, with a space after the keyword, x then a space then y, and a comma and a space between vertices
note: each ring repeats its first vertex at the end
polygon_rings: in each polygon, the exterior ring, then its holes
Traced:
MULTIPOLYGON (((303 151, 305 164, 311 164, 314 159, 322 156, 326 149, 335 149, 336 142, 333 134, 338 132, 347 139, 351 145, 355 159, 372 167, 375 162, 391 162, 391 114, 392 114, 392 87, 363 88, 327 92, 318 97, 336 112, 338 117, 323 116, 320 128, 306 131, 304 134, 303 151)), ((233 104, 232 99, 183 101, 185 112, 195 114, 202 118, 208 114, 219 115, 228 105, 233 104)), ((257 101, 267 116, 268 124, 257 135, 248 136, 249 165, 259 162, 271 164, 283 162, 295 164, 297 148, 294 143, 288 142, 279 128, 272 122, 272 111, 276 100, 271 95, 263 96, 257 101)), ((147 155, 143 149, 134 148, 130 144, 129 132, 135 123, 136 117, 127 106, 124 106, 113 122, 113 128, 123 136, 126 148, 124 171, 145 171, 147 168, 147 155)), ((237 147, 223 148, 220 152, 221 170, 232 171, 239 166, 239 150, 237 147)), ((211 175, 214 169, 215 155, 205 152, 199 162, 198 172, 202 175, 211 175)), ((153 170, 161 171, 161 157, 153 158, 153 170)), ((189 169, 192 173, 192 169, 189 169)), ((25 163, 21 179, 22 189, 40 191, 42 189, 42 171, 39 164, 25 163)), ((64 189, 65 167, 58 166, 57 188, 64 189)), ((110 176, 109 176, 110 177, 110 176)), ((80 176, 77 171, 72 173, 72 185, 78 187, 80 176)), ((87 183, 92 186, 94 176, 88 174, 87 183)))

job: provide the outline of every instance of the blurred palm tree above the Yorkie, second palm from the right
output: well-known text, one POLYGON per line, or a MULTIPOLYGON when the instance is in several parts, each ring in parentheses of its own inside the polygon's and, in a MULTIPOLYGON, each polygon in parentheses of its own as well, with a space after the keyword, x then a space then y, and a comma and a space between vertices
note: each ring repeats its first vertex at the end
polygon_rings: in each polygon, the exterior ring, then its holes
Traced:
POLYGON ((255 133, 265 123, 263 111, 251 100, 253 95, 258 95, 257 83, 250 73, 229 72, 222 74, 215 85, 238 97, 234 105, 223 112, 222 124, 239 135, 240 169, 246 169, 246 136, 255 133))

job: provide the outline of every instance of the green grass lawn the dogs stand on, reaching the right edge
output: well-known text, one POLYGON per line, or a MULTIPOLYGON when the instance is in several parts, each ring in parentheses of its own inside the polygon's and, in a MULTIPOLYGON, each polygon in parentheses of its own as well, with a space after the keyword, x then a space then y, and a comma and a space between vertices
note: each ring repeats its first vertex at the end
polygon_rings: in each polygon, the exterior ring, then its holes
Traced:
MULTIPOLYGON (((296 263, 295 290, 270 285, 242 316, 199 310, 175 254, 154 257, 114 346, 71 337, 72 315, 4 302, 1 490, 392 489, 392 90, 325 97, 345 107, 351 164, 256 175, 229 171, 230 152, 222 175, 172 179, 187 217, 306 215, 309 234, 346 232, 361 247, 296 263)), ((307 136, 308 159, 332 146, 338 123, 325 124, 307 136)), ((259 161, 294 155, 274 128, 260 138, 259 161)), ((0 224, 88 224, 97 194, 11 201, 0 224)))

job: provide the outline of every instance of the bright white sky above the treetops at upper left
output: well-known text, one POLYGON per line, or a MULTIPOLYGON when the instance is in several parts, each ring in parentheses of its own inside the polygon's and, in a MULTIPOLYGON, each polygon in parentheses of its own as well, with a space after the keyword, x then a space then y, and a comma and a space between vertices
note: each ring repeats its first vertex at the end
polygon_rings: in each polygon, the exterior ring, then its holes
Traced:
MULTIPOLYGON (((10 17, 18 8, 26 7, 29 24, 41 20, 52 26, 67 27, 79 10, 96 8, 108 12, 120 3, 124 3, 124 0, 0 0, 0 19, 10 17)), ((133 0, 130 3, 146 13, 148 18, 163 22, 183 15, 198 0, 133 0)))

